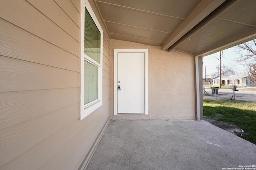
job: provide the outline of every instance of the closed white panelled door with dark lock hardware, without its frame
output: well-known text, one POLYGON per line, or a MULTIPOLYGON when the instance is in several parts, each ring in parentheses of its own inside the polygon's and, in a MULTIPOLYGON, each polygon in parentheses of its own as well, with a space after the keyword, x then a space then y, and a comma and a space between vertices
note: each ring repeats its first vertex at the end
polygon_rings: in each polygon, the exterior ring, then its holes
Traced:
POLYGON ((117 113, 144 113, 145 53, 118 53, 117 113))

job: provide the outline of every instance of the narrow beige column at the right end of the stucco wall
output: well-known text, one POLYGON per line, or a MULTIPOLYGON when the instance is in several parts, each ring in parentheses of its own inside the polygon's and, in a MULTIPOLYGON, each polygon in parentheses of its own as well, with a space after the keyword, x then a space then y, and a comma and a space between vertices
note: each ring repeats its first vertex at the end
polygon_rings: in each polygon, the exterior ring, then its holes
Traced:
POLYGON ((203 117, 203 57, 194 57, 196 120, 203 117))

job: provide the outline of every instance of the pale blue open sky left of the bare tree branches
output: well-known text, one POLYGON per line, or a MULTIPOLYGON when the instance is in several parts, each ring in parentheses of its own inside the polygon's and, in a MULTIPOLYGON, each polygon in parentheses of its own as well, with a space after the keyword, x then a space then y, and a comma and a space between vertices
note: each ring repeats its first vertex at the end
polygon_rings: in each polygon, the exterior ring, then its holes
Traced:
MULTIPOLYGON (((238 58, 240 54, 237 53, 237 47, 231 47, 229 49, 223 50, 223 55, 221 57, 222 67, 230 66, 236 72, 236 74, 244 74, 246 67, 240 63, 235 62, 235 58, 238 58)), ((211 75, 214 72, 218 72, 218 66, 220 65, 220 52, 214 53, 203 57, 203 78, 211 75), (206 66, 206 67, 205 67, 206 66)))

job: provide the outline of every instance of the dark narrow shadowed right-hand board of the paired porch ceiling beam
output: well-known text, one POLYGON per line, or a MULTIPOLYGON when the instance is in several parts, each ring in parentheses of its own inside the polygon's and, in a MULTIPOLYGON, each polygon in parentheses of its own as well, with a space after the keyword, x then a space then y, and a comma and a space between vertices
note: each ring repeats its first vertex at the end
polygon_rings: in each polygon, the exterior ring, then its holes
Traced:
POLYGON ((222 3, 218 8, 216 8, 211 14, 206 16, 200 23, 198 23, 196 26, 194 26, 192 29, 190 29, 185 35, 180 37, 175 43, 173 43, 169 47, 169 51, 180 45, 182 42, 184 42, 186 39, 188 39, 190 36, 192 36, 194 33, 202 29, 205 25, 210 23, 210 21, 216 19, 220 14, 225 12, 228 8, 230 8, 232 5, 234 5, 239 0, 226 0, 224 3, 222 3))

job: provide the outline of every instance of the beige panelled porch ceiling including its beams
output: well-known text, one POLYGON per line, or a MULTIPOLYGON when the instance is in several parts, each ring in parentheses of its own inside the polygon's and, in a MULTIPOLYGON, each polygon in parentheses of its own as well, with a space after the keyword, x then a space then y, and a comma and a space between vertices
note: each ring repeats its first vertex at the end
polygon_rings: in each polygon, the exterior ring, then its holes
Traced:
POLYGON ((256 38, 255 0, 94 0, 111 39, 205 56, 256 38))

